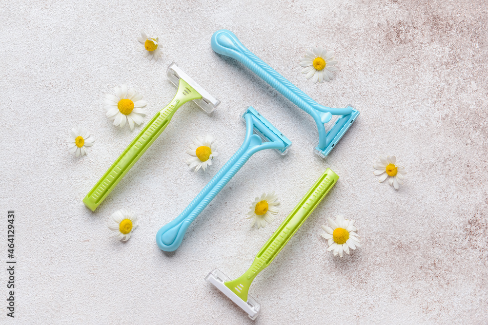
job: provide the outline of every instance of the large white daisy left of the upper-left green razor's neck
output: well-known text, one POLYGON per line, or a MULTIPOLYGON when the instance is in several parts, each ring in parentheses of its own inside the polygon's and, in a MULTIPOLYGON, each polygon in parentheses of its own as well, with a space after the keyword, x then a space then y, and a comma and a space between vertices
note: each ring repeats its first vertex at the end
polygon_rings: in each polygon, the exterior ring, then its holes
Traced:
POLYGON ((122 128, 125 122, 129 122, 130 129, 134 130, 134 123, 139 125, 144 120, 141 115, 145 115, 146 111, 142 107, 145 107, 147 102, 141 100, 142 95, 137 90, 127 89, 126 85, 122 85, 121 88, 114 87, 114 92, 117 96, 105 95, 105 115, 114 120, 115 126, 122 128))

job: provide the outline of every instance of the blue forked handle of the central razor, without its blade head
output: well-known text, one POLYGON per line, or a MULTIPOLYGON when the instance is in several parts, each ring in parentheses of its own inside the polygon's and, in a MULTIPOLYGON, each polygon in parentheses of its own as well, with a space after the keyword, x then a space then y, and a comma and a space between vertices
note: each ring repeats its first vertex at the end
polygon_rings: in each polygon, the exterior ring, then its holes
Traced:
POLYGON ((246 136, 243 145, 232 155, 183 212, 173 221, 158 230, 158 233, 156 234, 156 243, 160 249, 164 251, 174 251, 180 247, 190 224, 254 153, 264 149, 281 150, 285 148, 285 145, 281 141, 269 141, 263 143, 259 135, 253 134, 254 123, 252 115, 247 113, 244 115, 244 119, 246 121, 246 136))

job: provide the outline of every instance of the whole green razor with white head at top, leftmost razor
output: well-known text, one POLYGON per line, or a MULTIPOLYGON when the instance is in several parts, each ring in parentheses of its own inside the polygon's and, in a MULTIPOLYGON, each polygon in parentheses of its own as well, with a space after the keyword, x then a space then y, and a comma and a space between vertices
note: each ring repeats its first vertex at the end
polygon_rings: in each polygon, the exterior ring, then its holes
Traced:
POLYGON ((192 78, 186 75, 176 63, 171 63, 166 71, 168 79, 178 87, 171 102, 159 111, 142 129, 141 133, 129 144, 119 158, 113 163, 98 183, 86 194, 83 203, 95 211, 105 197, 121 181, 122 177, 136 163, 142 154, 163 133, 176 110, 184 103, 193 100, 206 113, 212 113, 220 101, 210 96, 192 78))

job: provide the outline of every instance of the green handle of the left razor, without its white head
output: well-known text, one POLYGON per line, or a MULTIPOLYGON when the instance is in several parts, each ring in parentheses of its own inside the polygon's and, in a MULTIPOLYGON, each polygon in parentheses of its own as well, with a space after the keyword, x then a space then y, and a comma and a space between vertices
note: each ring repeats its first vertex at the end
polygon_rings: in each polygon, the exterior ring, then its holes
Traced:
POLYGON ((180 91, 180 89, 184 89, 187 86, 186 82, 180 79, 176 96, 165 108, 154 115, 151 121, 135 137, 108 171, 103 174, 93 189, 86 194, 83 203, 90 210, 95 211, 97 209, 105 197, 122 180, 122 177, 139 160, 142 154, 145 153, 147 148, 163 133, 176 110, 187 101, 202 97, 195 91, 189 94, 184 94, 183 91, 180 91))

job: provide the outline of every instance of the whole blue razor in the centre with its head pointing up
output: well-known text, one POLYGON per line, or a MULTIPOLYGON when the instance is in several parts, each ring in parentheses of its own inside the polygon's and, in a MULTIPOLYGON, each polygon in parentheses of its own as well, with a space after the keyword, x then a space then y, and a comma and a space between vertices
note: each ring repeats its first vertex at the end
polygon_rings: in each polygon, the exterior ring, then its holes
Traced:
POLYGON ((276 149, 280 154, 285 155, 290 148, 291 141, 251 106, 244 111, 241 117, 246 124, 243 145, 183 212, 176 219, 159 229, 156 234, 156 243, 158 243, 160 249, 174 251, 180 247, 186 229, 188 229, 193 220, 254 153, 264 149, 276 149))

